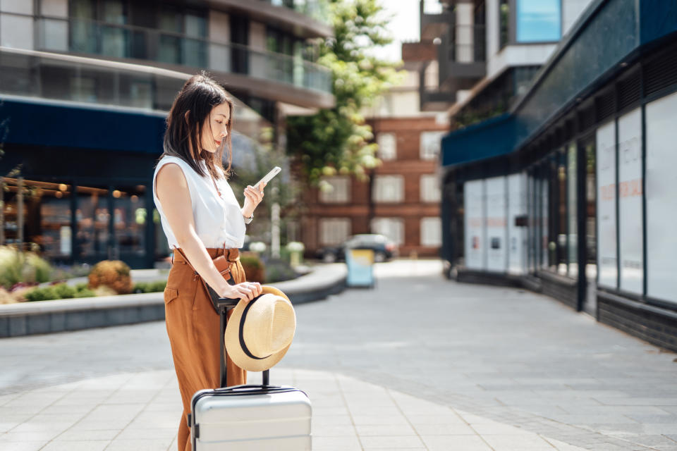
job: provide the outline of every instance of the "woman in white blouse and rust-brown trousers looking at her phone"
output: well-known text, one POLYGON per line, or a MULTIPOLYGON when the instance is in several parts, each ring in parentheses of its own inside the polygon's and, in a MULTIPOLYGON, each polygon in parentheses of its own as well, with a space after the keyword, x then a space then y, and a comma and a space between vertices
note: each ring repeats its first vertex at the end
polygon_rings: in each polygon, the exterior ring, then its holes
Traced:
MULTIPOLYGON (((174 99, 164 134, 164 153, 153 175, 153 199, 173 252, 164 290, 166 328, 178 378, 183 415, 178 450, 190 450, 187 416, 193 393, 219 387, 220 319, 201 277, 221 297, 250 301, 262 292, 247 283, 238 257, 245 218, 253 218, 263 187, 244 190, 243 208, 228 185, 233 101, 204 72, 190 78, 174 99), (224 148, 228 168, 221 164, 224 148), (236 285, 229 285, 212 259, 225 254, 236 285), (190 263, 189 263, 190 262, 190 263), (195 268, 193 270, 193 268, 195 268)), ((232 313, 232 310, 231 312, 232 313)), ((247 383, 247 373, 226 355, 228 385, 247 383)))

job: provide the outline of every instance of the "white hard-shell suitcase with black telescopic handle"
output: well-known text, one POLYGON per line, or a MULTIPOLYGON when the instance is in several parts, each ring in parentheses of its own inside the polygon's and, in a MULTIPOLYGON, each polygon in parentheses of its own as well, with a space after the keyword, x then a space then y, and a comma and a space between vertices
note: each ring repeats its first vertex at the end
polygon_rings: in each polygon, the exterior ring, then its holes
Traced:
MULTIPOLYGON (((237 301, 219 299, 221 348, 226 310, 237 301)), ((221 355, 221 386, 226 385, 226 362, 221 355)), ((306 451, 312 450, 312 407, 307 395, 289 385, 233 385, 198 390, 190 401, 188 427, 193 451, 306 451)))

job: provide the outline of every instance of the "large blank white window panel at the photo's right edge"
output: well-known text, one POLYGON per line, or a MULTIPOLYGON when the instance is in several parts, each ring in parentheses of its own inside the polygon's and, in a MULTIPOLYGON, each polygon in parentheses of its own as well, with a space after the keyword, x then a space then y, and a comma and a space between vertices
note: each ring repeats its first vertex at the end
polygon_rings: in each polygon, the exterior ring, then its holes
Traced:
POLYGON ((646 106, 647 295, 677 303, 677 93, 646 106))

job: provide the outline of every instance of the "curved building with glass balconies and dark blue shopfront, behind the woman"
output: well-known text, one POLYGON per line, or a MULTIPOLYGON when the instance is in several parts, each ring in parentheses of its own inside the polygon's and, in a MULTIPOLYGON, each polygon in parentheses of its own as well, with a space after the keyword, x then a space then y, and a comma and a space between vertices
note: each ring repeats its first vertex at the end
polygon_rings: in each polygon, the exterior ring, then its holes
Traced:
POLYGON ((245 164, 283 142, 287 115, 334 105, 313 62, 314 38, 331 36, 324 12, 321 0, 1 1, 0 243, 152 267, 168 249, 150 183, 183 82, 205 69, 236 98, 245 164))

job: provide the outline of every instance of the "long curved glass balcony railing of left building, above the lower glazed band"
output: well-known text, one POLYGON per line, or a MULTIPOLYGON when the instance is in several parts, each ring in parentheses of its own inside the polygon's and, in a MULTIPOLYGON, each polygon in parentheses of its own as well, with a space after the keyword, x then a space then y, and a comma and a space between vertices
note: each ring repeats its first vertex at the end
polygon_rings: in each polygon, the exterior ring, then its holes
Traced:
POLYGON ((219 44, 163 30, 72 18, 39 18, 37 29, 38 47, 44 51, 207 68, 331 92, 331 73, 327 68, 303 58, 257 51, 241 44, 219 44))

